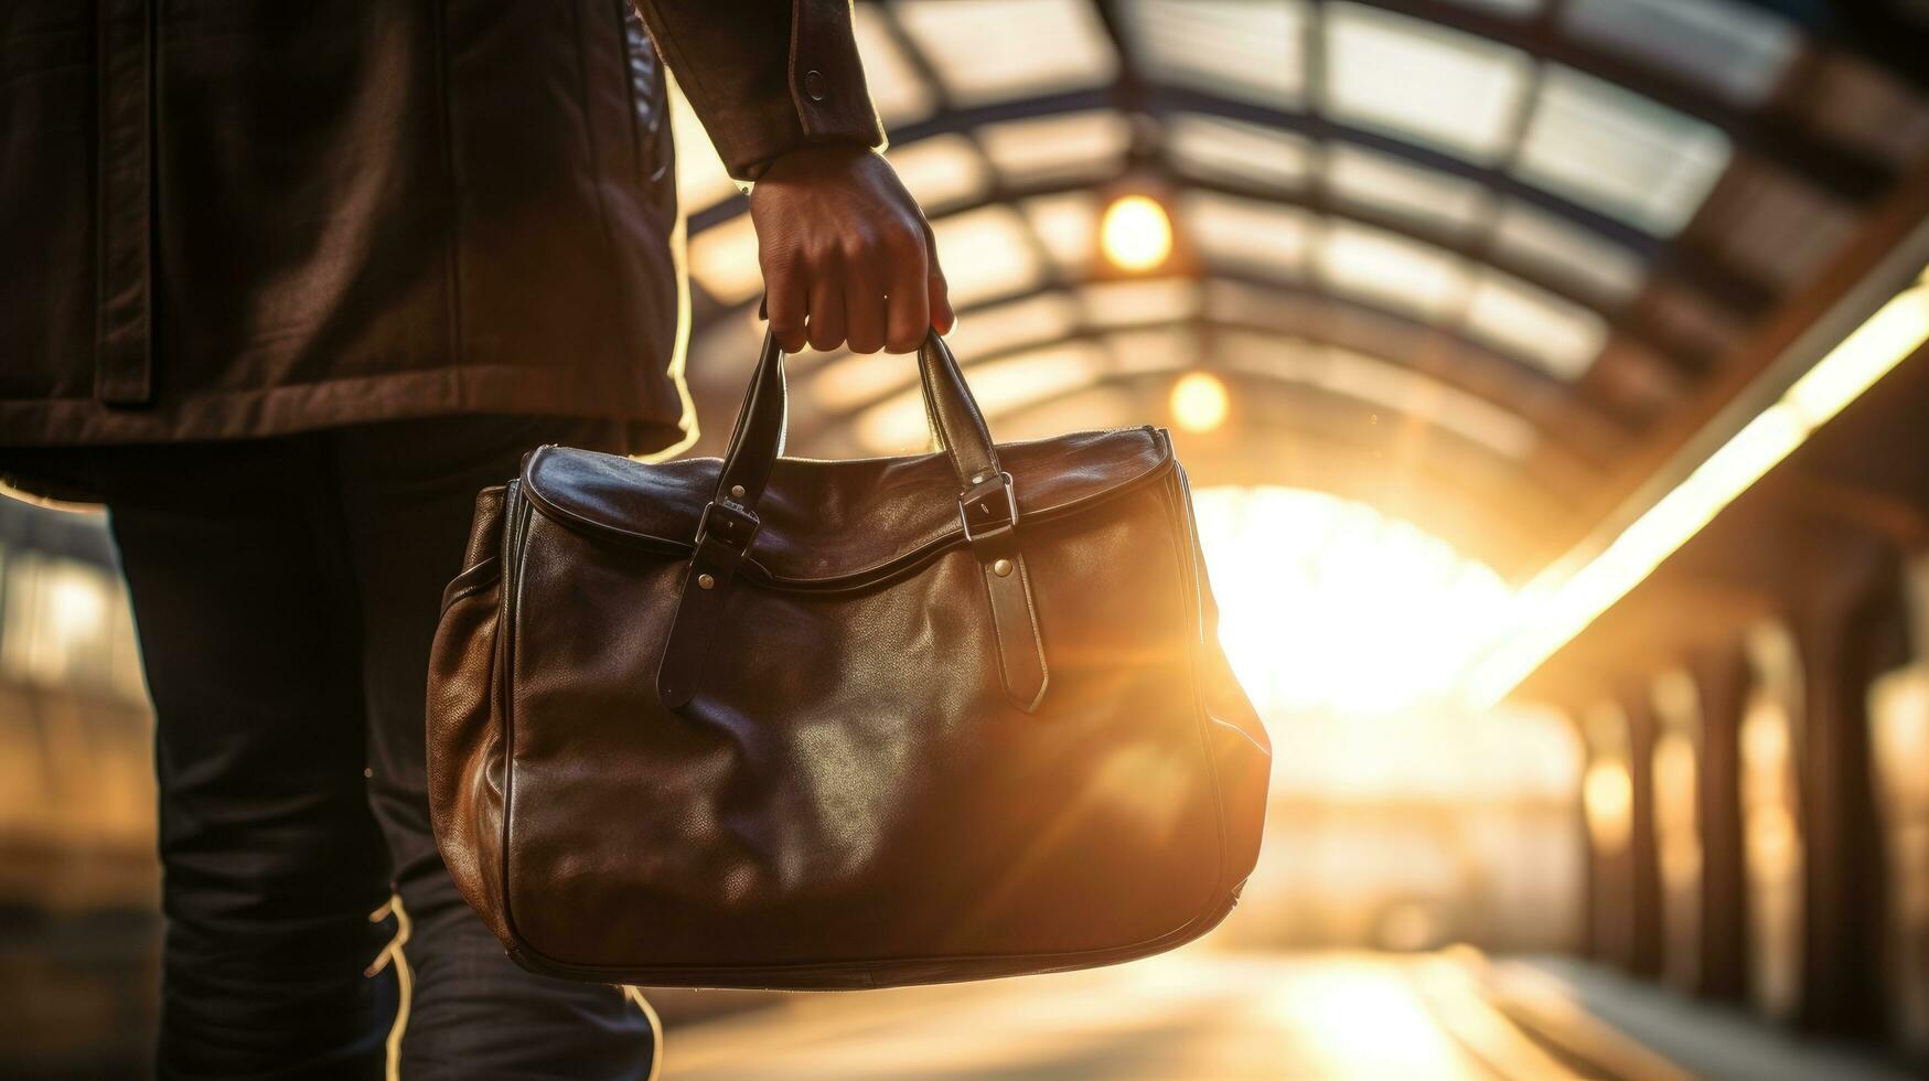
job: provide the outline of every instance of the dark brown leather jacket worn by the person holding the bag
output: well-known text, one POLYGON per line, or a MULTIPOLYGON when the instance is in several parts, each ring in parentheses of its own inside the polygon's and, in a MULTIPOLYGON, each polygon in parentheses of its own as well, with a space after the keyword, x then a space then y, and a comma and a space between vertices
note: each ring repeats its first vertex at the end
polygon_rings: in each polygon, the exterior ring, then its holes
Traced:
POLYGON ((509 411, 675 442, 650 37, 739 178, 882 135, 849 0, 640 8, 0 4, 0 446, 509 411))

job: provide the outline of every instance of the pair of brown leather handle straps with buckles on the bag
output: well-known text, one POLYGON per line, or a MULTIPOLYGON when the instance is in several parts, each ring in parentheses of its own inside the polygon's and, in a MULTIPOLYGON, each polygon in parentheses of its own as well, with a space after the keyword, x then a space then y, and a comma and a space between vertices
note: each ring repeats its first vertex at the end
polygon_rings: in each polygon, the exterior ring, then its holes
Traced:
MULTIPOLYGON (((1019 498, 1011 473, 999 469, 984 413, 936 330, 918 347, 918 380, 926 419, 959 481, 959 521, 984 571, 1005 689, 1020 708, 1034 710, 1047 676, 1030 579, 1017 548, 1019 498)), ((669 708, 681 708, 696 695, 723 596, 762 525, 756 510, 783 454, 787 413, 783 351, 766 332, 723 452, 718 488, 696 523, 696 546, 656 670, 656 691, 669 708)))

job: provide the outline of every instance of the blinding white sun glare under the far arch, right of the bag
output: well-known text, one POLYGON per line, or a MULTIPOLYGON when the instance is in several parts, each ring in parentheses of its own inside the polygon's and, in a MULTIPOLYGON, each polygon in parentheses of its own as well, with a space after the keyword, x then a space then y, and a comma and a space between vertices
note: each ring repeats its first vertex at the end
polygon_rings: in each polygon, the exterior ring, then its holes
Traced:
POLYGON ((1516 595, 1485 564, 1366 504, 1298 488, 1192 496, 1219 641, 1265 716, 1275 791, 1339 801, 1566 799, 1553 710, 1470 701, 1516 595))

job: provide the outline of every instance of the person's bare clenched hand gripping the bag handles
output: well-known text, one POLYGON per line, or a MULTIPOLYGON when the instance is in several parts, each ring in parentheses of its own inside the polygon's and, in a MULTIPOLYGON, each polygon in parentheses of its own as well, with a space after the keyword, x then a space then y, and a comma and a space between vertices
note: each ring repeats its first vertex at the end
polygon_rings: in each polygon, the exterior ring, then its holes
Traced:
POLYGON ((878 154, 851 143, 791 151, 750 189, 770 330, 808 342, 910 353, 955 320, 918 201, 878 154))

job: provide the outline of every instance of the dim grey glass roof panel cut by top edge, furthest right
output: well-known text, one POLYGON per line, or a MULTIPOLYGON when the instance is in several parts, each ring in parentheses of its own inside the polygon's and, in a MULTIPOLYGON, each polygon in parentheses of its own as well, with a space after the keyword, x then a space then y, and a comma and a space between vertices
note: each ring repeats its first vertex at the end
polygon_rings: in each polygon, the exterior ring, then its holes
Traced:
POLYGON ((1566 29, 1636 60, 1759 104, 1780 83, 1802 33, 1732 0, 1568 0, 1566 29))

